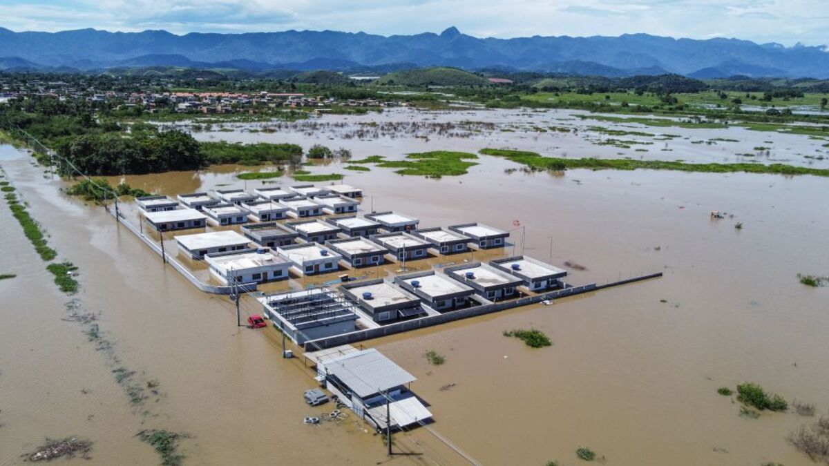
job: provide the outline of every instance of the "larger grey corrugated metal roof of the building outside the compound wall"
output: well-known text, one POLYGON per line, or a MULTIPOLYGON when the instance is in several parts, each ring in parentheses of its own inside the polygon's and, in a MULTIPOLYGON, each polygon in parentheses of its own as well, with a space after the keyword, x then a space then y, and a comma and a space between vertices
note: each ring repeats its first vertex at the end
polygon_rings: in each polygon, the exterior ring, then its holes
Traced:
POLYGON ((336 376, 361 398, 417 380, 374 348, 324 364, 328 374, 336 376))

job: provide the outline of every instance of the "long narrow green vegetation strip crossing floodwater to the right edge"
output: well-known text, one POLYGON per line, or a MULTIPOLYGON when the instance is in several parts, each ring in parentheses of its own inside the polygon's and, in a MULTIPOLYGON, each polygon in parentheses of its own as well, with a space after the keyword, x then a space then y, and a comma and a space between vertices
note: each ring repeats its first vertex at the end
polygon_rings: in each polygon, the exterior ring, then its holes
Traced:
POLYGON ((668 162, 663 160, 633 160, 618 158, 553 158, 543 157, 539 153, 516 151, 509 149, 485 148, 479 151, 484 155, 507 158, 515 163, 521 163, 531 170, 560 171, 569 168, 589 168, 591 170, 676 170, 680 172, 705 173, 763 173, 778 175, 813 175, 829 177, 827 168, 794 167, 782 163, 763 165, 760 163, 684 163, 679 161, 668 162))

